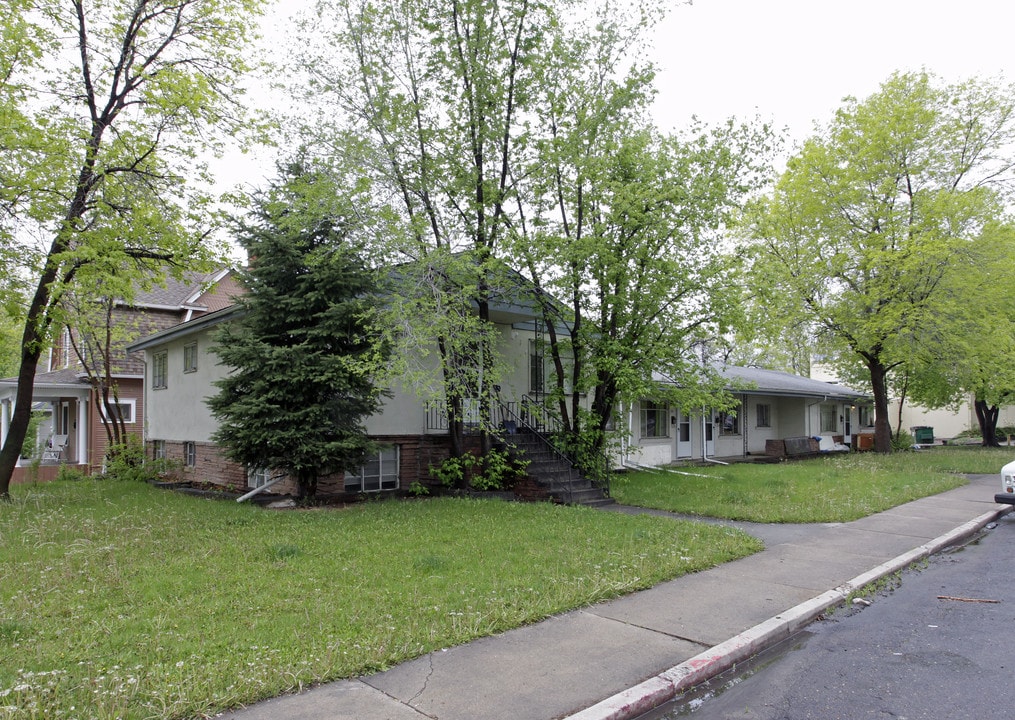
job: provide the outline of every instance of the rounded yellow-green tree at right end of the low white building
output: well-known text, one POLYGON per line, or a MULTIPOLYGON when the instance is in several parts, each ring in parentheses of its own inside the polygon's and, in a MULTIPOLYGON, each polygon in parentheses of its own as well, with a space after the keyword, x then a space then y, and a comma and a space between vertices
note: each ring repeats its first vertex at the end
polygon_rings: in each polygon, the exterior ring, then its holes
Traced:
POLYGON ((1003 218, 1013 140, 1012 88, 895 74, 870 97, 847 99, 757 208, 760 297, 780 322, 808 320, 839 365, 864 368, 880 452, 891 448, 888 375, 1003 218))

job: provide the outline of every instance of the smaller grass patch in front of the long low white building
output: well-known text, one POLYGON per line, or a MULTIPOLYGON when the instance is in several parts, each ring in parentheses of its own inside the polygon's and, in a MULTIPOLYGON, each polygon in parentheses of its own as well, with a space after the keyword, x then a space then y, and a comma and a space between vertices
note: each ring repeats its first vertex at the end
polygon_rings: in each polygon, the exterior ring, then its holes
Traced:
POLYGON ((994 473, 1015 449, 934 448, 891 455, 834 454, 779 464, 709 465, 629 472, 618 502, 705 517, 766 523, 847 522, 994 473))

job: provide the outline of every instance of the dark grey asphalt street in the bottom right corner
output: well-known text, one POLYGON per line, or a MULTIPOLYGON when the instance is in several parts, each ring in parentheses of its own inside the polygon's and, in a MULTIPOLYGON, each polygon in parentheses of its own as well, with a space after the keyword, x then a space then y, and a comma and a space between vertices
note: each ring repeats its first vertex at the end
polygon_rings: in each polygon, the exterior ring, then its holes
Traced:
POLYGON ((944 720, 1006 714, 1015 517, 642 720, 944 720))

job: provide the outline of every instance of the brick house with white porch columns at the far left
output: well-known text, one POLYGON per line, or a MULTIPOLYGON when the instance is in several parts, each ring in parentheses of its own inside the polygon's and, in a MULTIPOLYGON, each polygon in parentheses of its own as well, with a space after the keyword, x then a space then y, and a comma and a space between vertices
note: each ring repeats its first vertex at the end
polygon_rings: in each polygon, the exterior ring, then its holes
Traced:
MULTIPOLYGON (((136 335, 186 323, 231 304, 239 287, 229 269, 191 273, 182 280, 168 278, 164 286, 139 292, 130 306, 120 305, 114 322, 136 329, 136 335)), ((22 458, 13 481, 28 476, 49 479, 60 465, 84 472, 101 468, 107 451, 101 402, 96 401, 87 373, 72 346, 73 329, 64 328, 43 357, 32 391, 33 408, 44 415, 36 458, 22 458)), ((144 416, 144 365, 138 353, 118 352, 113 380, 117 384, 117 411, 129 434, 141 435, 144 416)), ((0 442, 7 437, 17 390, 16 379, 0 380, 0 442)))

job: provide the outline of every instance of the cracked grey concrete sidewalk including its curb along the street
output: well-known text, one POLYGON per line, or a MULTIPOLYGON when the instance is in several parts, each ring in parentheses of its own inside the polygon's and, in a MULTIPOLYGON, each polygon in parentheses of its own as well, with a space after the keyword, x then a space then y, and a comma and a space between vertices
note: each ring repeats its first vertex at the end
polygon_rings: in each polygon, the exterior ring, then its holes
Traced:
MULTIPOLYGON (((328 683, 230 720, 630 720, 757 653, 854 589, 1011 512, 998 475, 850 523, 730 523, 761 552, 633 595, 328 683)), ((617 512, 636 512, 617 508, 617 512)))

